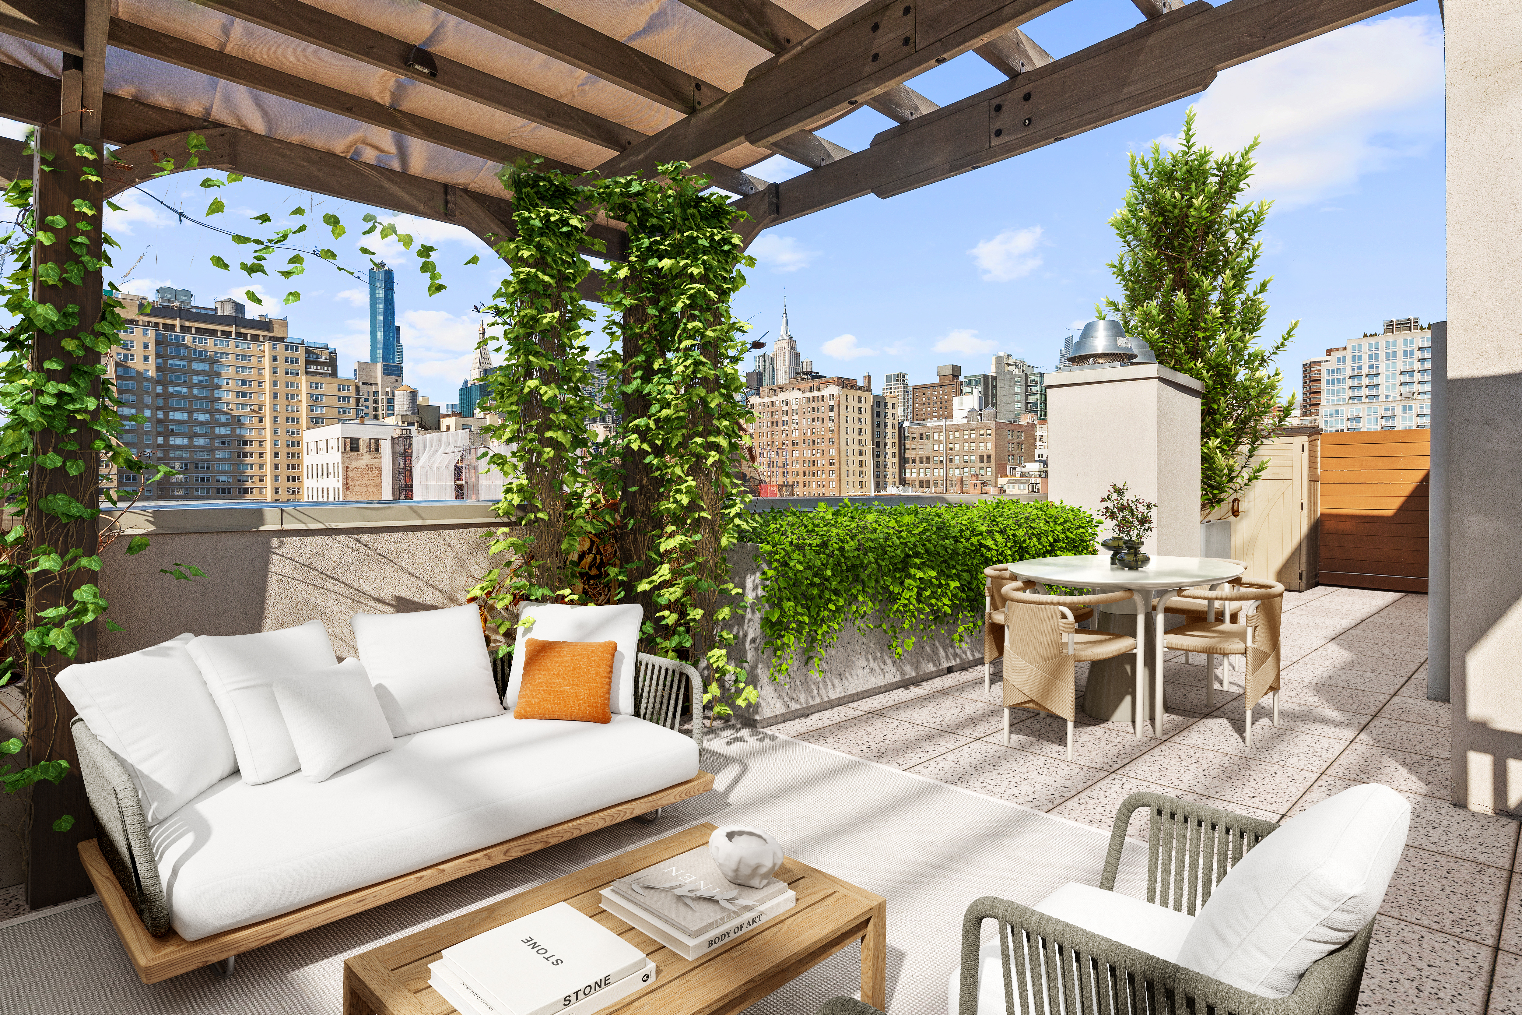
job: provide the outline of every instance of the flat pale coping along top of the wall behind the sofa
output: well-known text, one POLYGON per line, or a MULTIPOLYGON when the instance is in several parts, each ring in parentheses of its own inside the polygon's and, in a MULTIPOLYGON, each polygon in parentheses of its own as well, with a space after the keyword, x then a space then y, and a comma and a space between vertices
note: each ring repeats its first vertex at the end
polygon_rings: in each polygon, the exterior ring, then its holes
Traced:
POLYGON ((155 533, 275 533, 353 528, 496 528, 504 519, 492 501, 387 501, 251 507, 146 507, 102 511, 102 525, 119 517, 128 536, 155 533))

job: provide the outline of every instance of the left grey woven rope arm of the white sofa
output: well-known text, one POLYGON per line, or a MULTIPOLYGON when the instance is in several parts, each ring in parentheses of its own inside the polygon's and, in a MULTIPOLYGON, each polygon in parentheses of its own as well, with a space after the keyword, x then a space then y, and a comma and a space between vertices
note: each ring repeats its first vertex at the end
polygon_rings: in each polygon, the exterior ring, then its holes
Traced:
POLYGON ((82 718, 68 724, 79 753, 79 776, 96 819, 96 845, 149 934, 169 933, 169 899, 158 881, 154 845, 132 776, 82 718))

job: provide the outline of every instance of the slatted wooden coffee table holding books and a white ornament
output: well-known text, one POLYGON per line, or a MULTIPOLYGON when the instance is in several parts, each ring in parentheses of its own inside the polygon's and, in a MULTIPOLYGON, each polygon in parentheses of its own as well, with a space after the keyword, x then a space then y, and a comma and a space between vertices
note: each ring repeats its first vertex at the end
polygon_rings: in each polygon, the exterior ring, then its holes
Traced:
POLYGON ((788 857, 776 872, 798 904, 758 930, 686 960, 601 907, 613 880, 708 842, 714 825, 683 832, 568 873, 537 889, 408 934, 344 960, 344 1015, 447 1015, 428 986, 428 963, 467 937, 556 902, 569 902, 654 960, 648 988, 603 1009, 606 1015, 724 1015, 740 1012, 854 940, 861 942, 861 1000, 886 1010, 887 899, 788 857))

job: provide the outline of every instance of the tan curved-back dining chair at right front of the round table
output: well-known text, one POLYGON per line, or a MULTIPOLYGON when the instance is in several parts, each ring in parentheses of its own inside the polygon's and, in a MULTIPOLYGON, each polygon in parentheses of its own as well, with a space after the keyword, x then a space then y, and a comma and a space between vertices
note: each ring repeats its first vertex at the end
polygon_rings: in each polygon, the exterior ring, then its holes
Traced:
MULTIPOLYGON (((1272 692, 1274 695, 1274 726, 1278 726, 1278 628, 1285 609, 1285 586, 1277 581, 1240 578, 1233 589, 1184 589, 1178 597, 1240 603, 1237 612, 1240 622, 1195 621, 1184 624, 1163 635, 1163 647, 1205 654, 1207 712, 1215 708, 1215 656, 1242 656, 1245 659, 1242 694, 1247 729, 1243 737, 1247 746, 1251 747, 1253 709, 1263 700, 1265 694, 1272 692)), ((1221 670, 1224 676, 1224 660, 1221 670)))

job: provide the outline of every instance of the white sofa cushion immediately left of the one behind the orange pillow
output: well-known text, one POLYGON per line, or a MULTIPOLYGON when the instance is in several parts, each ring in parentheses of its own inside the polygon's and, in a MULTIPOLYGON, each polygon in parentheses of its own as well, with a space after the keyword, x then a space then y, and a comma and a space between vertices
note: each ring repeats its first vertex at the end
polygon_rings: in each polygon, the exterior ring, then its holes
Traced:
POLYGON ((358 613, 350 624, 393 737, 502 714, 475 606, 358 613))

